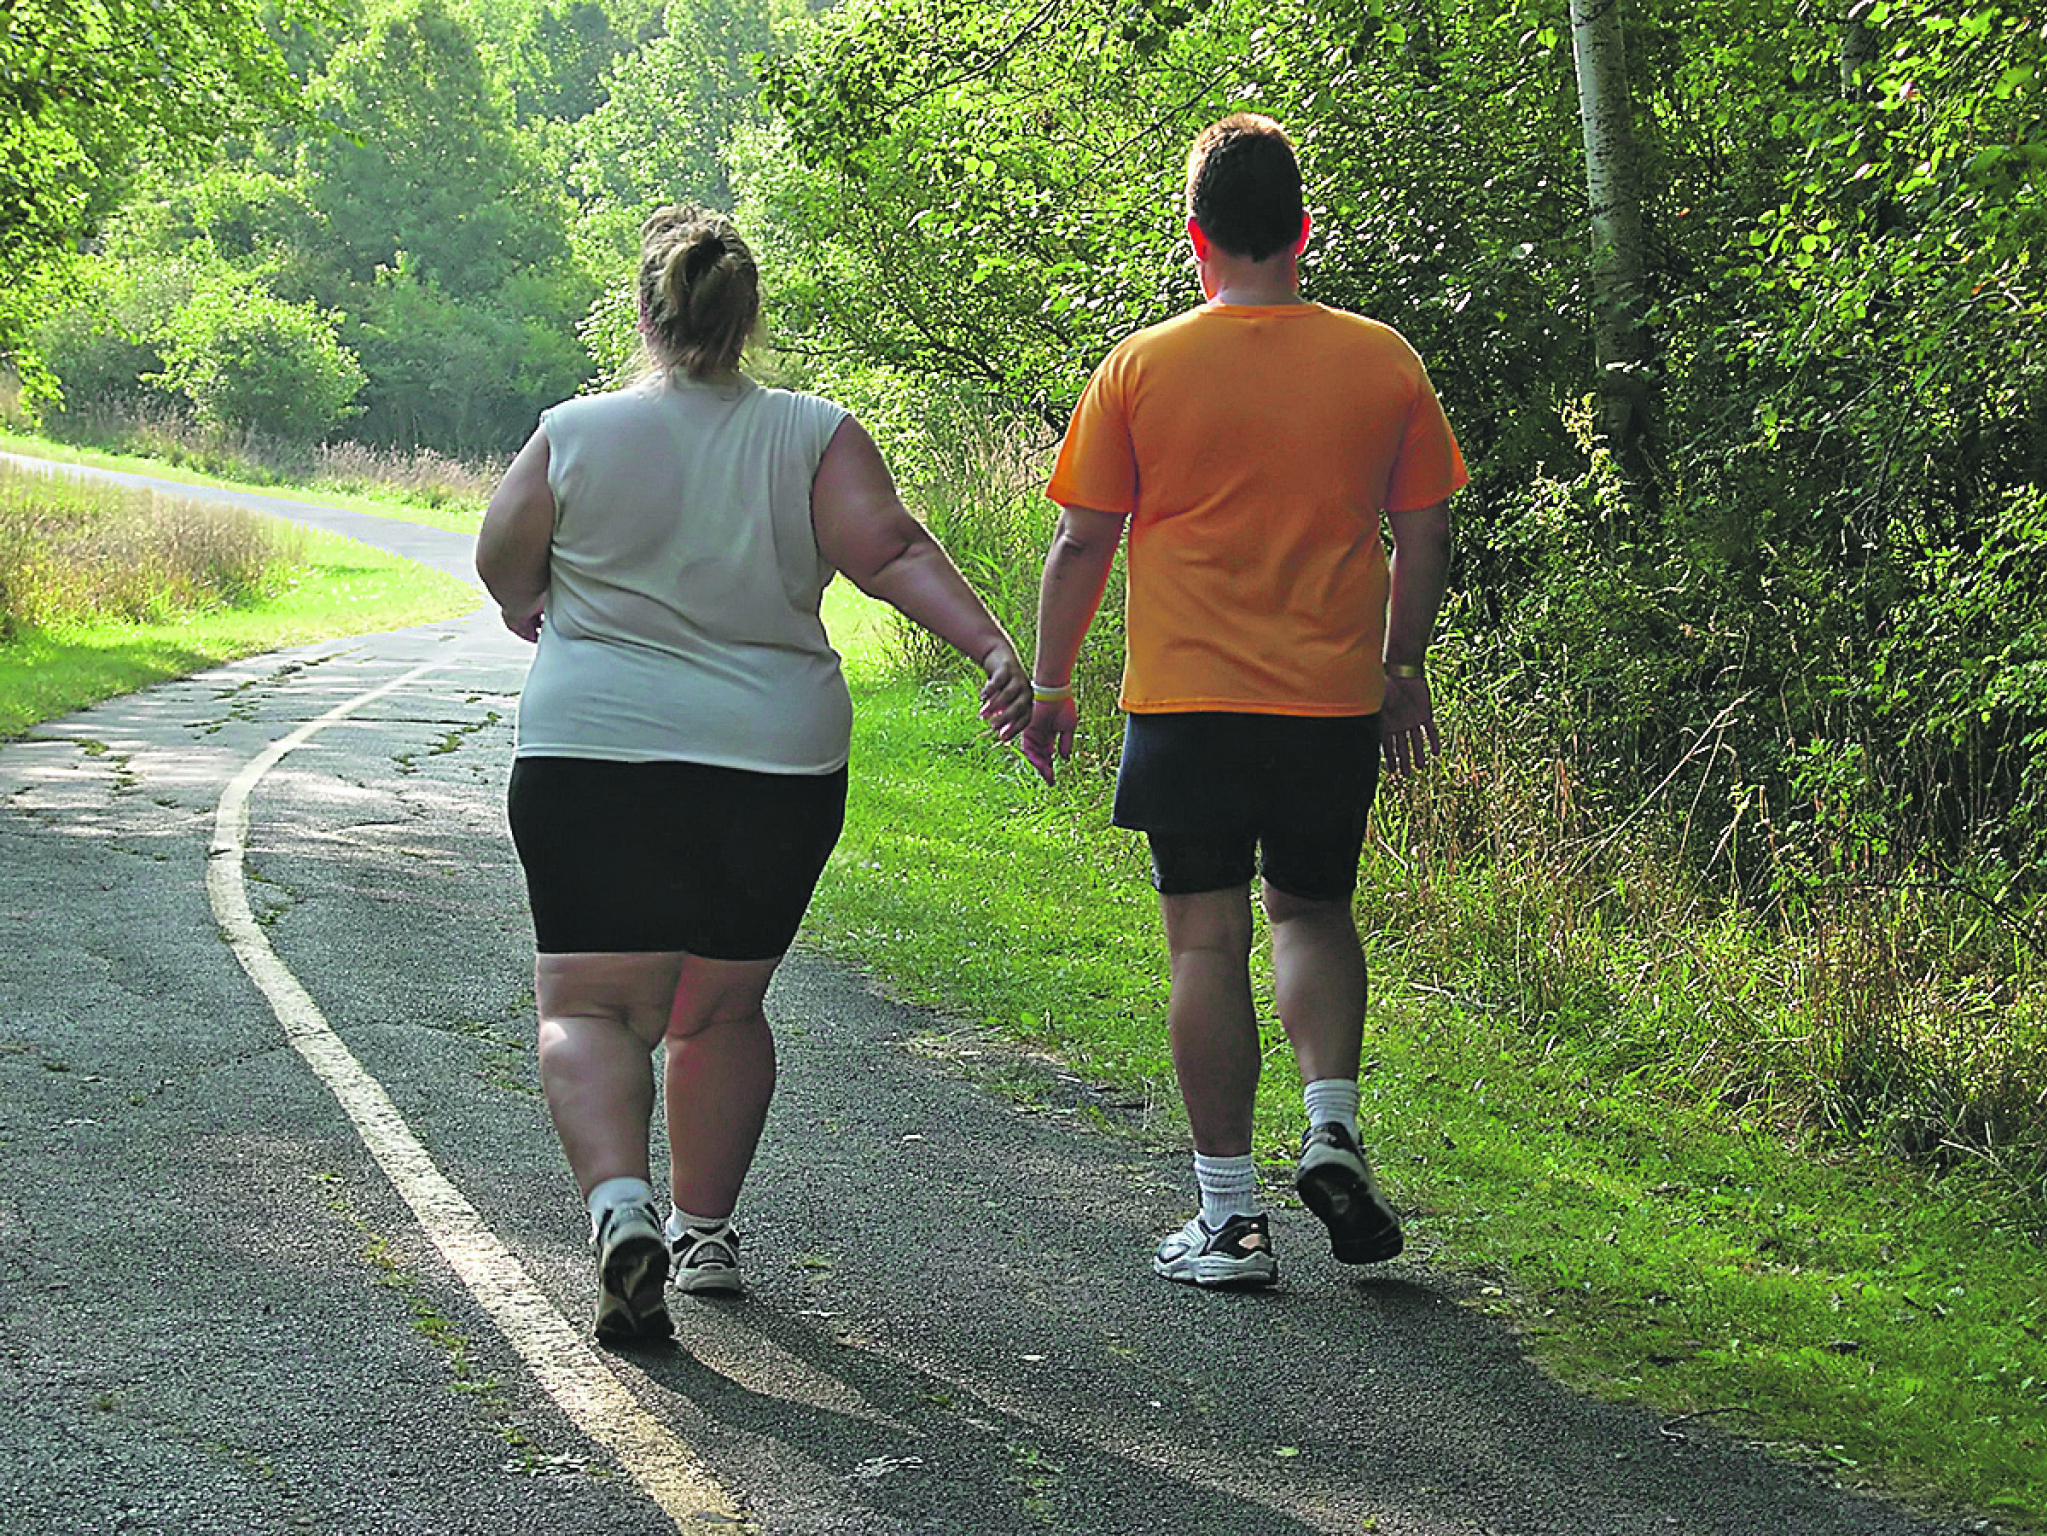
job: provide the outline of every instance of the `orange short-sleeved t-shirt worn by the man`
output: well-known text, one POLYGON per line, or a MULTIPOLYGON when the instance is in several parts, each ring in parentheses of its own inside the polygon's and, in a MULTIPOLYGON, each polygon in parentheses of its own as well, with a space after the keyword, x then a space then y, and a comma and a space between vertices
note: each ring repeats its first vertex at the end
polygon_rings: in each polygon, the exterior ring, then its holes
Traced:
POLYGON ((1316 303, 1206 305, 1103 358, 1046 494, 1130 518, 1126 711, 1371 715, 1380 514, 1464 481, 1398 332, 1316 303))

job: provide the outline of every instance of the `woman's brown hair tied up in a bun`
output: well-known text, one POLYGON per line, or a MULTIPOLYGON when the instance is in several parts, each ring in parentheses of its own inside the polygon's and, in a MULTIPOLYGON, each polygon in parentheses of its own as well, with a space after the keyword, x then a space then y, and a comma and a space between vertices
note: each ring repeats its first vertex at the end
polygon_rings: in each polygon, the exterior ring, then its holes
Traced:
POLYGON ((639 311, 657 367, 692 379, 737 369, 761 289, 733 221, 694 203, 655 209, 641 225, 639 311))

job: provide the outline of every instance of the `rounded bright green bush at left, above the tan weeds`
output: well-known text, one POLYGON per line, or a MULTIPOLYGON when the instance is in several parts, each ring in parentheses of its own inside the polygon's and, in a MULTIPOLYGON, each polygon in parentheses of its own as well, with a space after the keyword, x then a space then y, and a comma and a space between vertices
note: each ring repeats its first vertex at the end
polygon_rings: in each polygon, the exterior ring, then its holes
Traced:
POLYGON ((201 424, 287 442, 325 436, 362 389, 362 367, 338 317, 209 274, 164 332, 162 383, 192 401, 201 424))

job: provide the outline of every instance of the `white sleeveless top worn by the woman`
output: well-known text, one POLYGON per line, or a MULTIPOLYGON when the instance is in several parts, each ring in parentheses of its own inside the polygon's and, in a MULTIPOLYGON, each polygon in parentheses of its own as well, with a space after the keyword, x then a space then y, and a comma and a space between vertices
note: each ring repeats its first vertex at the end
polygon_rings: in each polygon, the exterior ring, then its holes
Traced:
POLYGON ((811 528, 843 420, 829 399, 680 371, 542 412, 555 543, 518 756, 845 766, 854 705, 811 528))

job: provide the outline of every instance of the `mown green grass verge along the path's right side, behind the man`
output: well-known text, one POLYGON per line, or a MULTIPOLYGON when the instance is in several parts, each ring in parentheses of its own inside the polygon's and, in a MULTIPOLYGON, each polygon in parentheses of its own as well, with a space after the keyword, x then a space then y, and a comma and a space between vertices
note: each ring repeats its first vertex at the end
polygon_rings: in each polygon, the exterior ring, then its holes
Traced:
MULTIPOLYGON (((827 621, 854 610, 839 596, 827 621)), ((888 680, 886 631, 862 623, 858 643, 833 627, 856 692, 854 780, 807 938, 907 999, 1058 1053, 1150 1106, 1152 1135, 1183 1141, 1165 946, 1142 846, 1107 827, 1105 776, 1040 788, 985 741, 964 682, 888 680)), ((1400 805, 1388 813, 1398 825, 1400 805)), ((1453 940, 1374 920, 1412 901, 1427 860, 1380 844, 1359 893, 1374 965, 1365 1124, 1394 1198, 1417 1212, 1412 1251, 1464 1276, 1472 1305, 1521 1329, 1560 1378, 1699 1415, 1676 1434, 1732 1434, 1848 1483, 2043 1528, 2039 1204, 1971 1159, 1934 1174, 1697 1092, 1683 1063, 1586 1026, 1627 1010, 1597 987, 1562 995, 1580 973, 1474 981, 1478 958, 1453 940), (1545 993, 1535 1028, 1513 995, 1529 985, 1545 993)), ((1470 864, 1431 887, 1429 922, 1492 911, 1455 911, 1498 901, 1470 864)), ((1754 936, 1722 942, 1750 946, 1722 971, 1760 958, 1754 936)), ((1681 1008, 1650 999, 1652 1014, 1681 1008)), ((1709 999, 1689 1012, 1705 1026, 1672 1038, 1711 1034, 1709 999)), ((1300 1090, 1269 997, 1261 1018, 1257 1149, 1281 1171, 1300 1090)))

